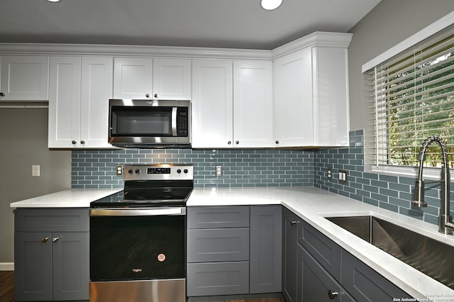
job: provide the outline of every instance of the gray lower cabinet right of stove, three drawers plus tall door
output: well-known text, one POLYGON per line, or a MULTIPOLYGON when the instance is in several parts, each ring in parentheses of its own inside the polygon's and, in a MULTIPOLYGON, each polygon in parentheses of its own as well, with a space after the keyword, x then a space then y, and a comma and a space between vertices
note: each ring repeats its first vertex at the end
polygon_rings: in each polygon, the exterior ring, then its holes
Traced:
POLYGON ((187 296, 280 289, 281 206, 187 208, 187 296))

